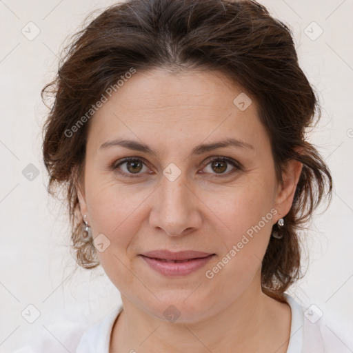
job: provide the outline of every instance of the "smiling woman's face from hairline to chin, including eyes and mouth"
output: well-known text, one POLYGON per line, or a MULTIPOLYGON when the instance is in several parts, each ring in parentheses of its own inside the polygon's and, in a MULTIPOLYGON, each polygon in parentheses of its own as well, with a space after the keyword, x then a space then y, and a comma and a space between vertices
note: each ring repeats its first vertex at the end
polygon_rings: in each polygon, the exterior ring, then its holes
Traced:
POLYGON ((80 207, 123 300, 191 322, 261 292, 272 225, 297 180, 276 183, 248 99, 221 73, 137 71, 90 121, 80 207), (142 256, 157 250, 211 255, 187 265, 142 256))

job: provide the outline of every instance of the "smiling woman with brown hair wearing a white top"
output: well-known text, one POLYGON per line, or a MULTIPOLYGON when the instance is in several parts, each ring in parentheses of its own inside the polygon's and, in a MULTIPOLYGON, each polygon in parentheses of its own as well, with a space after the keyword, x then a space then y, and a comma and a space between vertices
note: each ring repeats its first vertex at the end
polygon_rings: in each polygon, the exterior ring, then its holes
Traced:
POLYGON ((77 33, 46 92, 49 190, 123 303, 63 352, 349 352, 284 293, 332 178, 283 23, 254 1, 130 0, 77 33))

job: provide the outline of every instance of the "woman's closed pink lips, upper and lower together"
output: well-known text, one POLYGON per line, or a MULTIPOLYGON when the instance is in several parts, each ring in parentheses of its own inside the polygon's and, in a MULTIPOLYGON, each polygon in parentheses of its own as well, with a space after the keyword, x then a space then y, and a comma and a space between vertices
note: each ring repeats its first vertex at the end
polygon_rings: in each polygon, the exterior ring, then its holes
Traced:
POLYGON ((210 261, 214 254, 198 251, 170 252, 168 250, 154 250, 141 254, 142 259, 153 270, 167 276, 185 276, 210 261))

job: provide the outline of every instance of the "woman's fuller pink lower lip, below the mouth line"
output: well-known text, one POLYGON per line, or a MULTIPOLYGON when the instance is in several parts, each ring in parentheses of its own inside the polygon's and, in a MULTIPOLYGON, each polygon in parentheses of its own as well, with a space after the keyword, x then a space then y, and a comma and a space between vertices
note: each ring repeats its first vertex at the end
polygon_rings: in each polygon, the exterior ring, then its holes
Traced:
POLYGON ((203 257, 202 259, 192 259, 185 262, 163 262, 157 259, 141 255, 142 259, 148 263, 152 270, 157 271, 166 276, 185 276, 199 268, 202 268, 205 263, 208 263, 214 255, 203 257))

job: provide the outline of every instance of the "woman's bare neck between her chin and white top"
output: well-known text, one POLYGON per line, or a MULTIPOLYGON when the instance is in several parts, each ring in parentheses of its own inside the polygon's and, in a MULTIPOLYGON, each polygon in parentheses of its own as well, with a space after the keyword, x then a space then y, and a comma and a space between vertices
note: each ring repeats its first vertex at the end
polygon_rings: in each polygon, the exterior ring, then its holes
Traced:
POLYGON ((248 288, 216 314, 170 323, 121 296, 123 311, 114 324, 112 352, 286 352, 290 307, 248 288), (275 348, 275 349, 274 349, 275 348))

